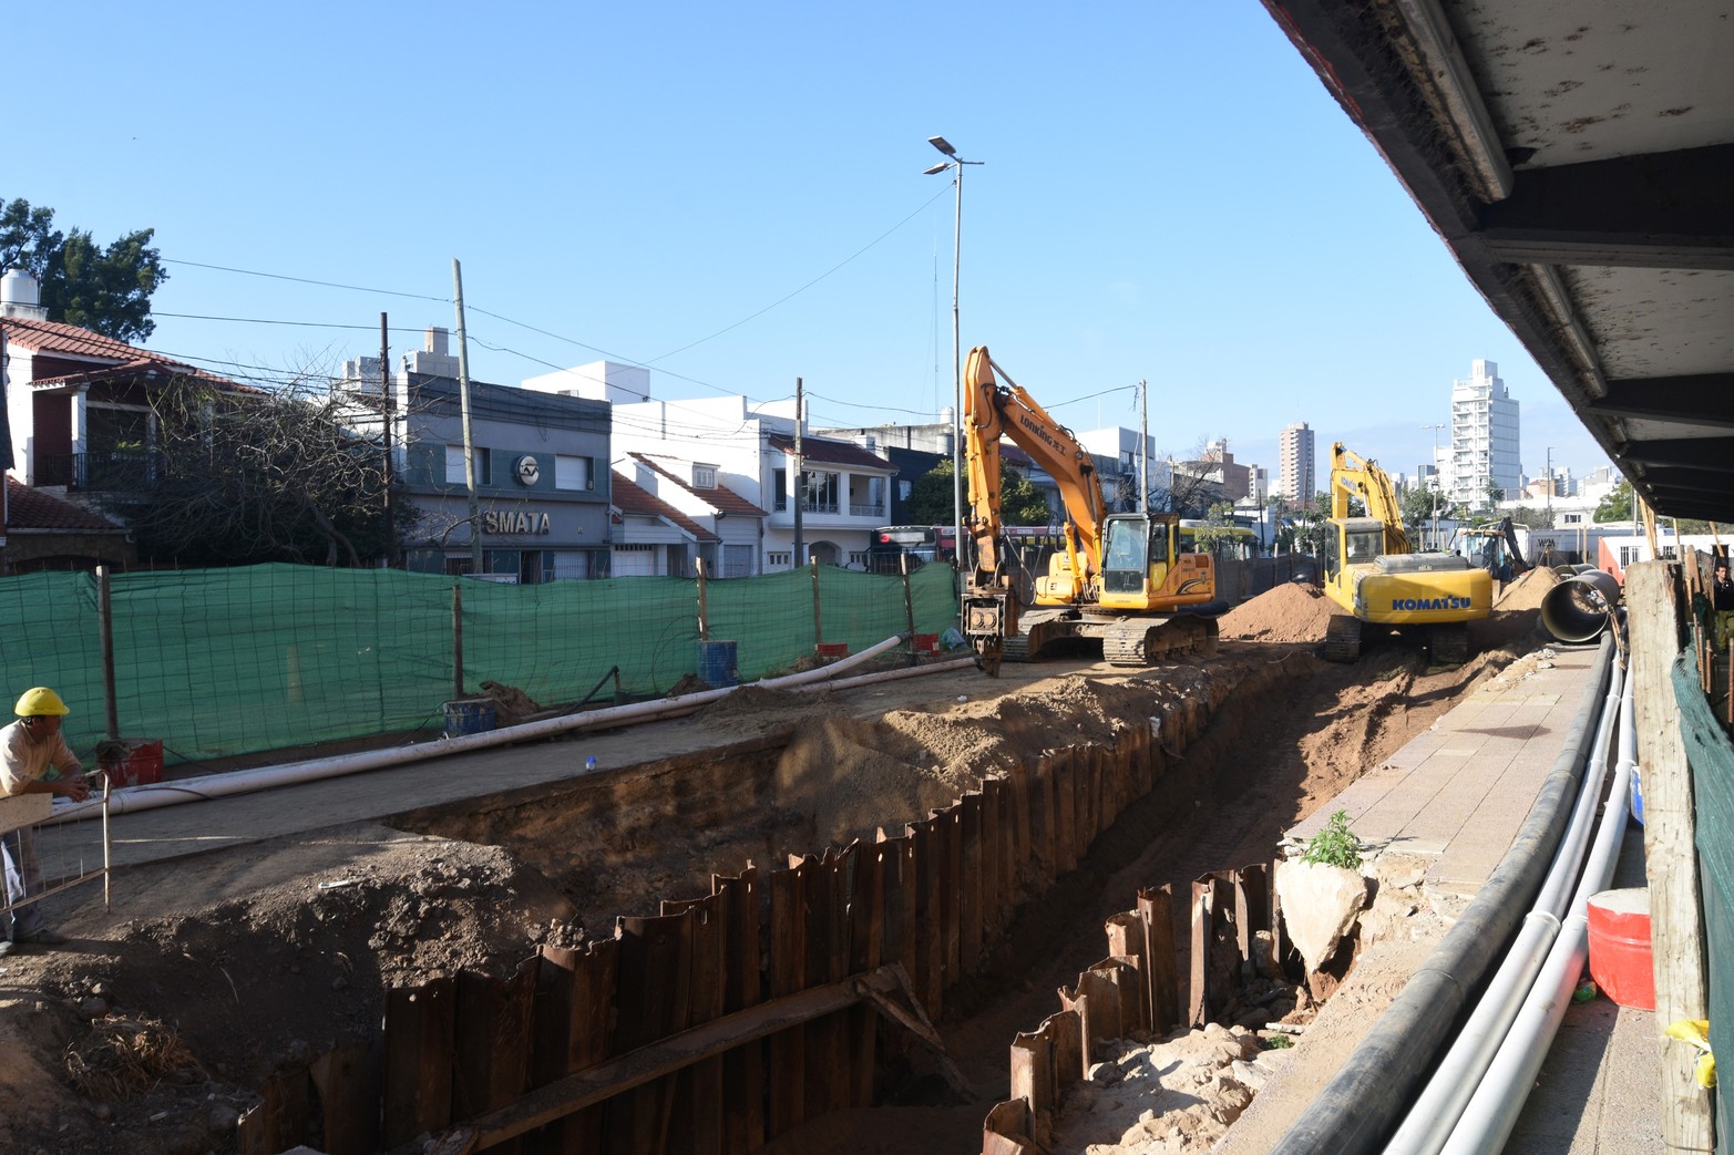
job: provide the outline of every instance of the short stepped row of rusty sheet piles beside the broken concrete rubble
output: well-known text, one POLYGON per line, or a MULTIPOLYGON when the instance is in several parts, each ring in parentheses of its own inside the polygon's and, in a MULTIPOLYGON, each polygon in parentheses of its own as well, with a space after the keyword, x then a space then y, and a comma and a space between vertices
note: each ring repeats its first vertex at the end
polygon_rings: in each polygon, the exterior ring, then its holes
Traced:
POLYGON ((1190 997, 1176 969, 1174 897, 1167 886, 1138 891, 1138 907, 1108 919, 1108 957, 1061 987, 1059 1011, 1011 1044, 1011 1098, 981 1124, 981 1155, 1037 1155, 1053 1146, 1054 1115, 1066 1087, 1089 1077, 1096 1047, 1132 1032, 1164 1035, 1222 1015, 1254 938, 1271 935, 1285 957, 1271 872, 1262 865, 1212 871, 1191 884, 1190 997))

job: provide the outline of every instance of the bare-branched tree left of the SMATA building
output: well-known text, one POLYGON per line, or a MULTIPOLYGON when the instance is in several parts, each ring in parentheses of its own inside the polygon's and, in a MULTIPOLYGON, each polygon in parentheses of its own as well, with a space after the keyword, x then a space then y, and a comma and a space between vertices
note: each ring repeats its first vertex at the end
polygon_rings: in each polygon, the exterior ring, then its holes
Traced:
POLYGON ((140 555, 196 565, 388 557, 414 515, 392 501, 399 524, 387 524, 385 456, 345 420, 350 406, 309 373, 267 392, 170 382, 153 395, 153 477, 121 498, 140 555))

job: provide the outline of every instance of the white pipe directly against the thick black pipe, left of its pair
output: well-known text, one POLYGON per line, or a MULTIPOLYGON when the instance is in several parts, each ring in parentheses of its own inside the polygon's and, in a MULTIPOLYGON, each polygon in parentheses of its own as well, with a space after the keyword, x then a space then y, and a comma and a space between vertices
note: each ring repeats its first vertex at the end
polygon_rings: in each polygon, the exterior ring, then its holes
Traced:
POLYGON ((1432 1072, 1427 1089, 1408 1108, 1403 1126, 1385 1145, 1385 1155, 1437 1155, 1444 1148, 1451 1127, 1463 1115, 1469 1098, 1493 1063, 1495 1053, 1535 985, 1542 962, 1559 935, 1559 919, 1566 912, 1566 895, 1583 865, 1583 852, 1595 825, 1595 808, 1600 805, 1602 782, 1607 779, 1607 751, 1613 746, 1614 723, 1620 718, 1623 675, 1625 668, 1614 662, 1600 721, 1595 728, 1590 763, 1578 791, 1578 805, 1571 812, 1571 824, 1566 827, 1559 853, 1554 855, 1554 864, 1542 883, 1535 909, 1524 917, 1517 940, 1505 952, 1498 973, 1488 983, 1469 1021, 1457 1032, 1451 1049, 1432 1072))

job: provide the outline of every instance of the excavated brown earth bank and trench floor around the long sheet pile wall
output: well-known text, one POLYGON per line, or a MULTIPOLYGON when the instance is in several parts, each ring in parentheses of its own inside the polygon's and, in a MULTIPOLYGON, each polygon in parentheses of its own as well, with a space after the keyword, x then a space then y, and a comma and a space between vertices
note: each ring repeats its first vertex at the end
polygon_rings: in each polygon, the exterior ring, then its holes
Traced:
MULTIPOLYGON (((872 1150, 910 1127, 921 1150, 968 1152, 987 1105, 1007 1091, 1011 1037, 1051 1015, 1054 989, 1103 956, 1105 917, 1134 905, 1138 888, 1184 895, 1210 871, 1269 862, 1288 825, 1509 659, 1429 671, 1418 654, 1375 650, 1337 666, 1313 645, 1231 642, 1196 666, 1063 676, 990 702, 869 720, 824 699, 744 690, 706 718, 739 732, 727 746, 404 825, 505 846, 567 895, 588 936, 607 938, 616 916, 706 895, 713 874, 872 843, 1020 760, 1151 730, 1165 754, 1153 789, 1077 869, 1025 900, 980 968, 947 989, 940 1032, 976 1100, 961 1101, 919 1047, 883 1047, 884 1106, 822 1115, 770 1148, 853 1150, 850 1136, 864 1132, 872 1150)), ((1184 943, 1186 904, 1176 907, 1184 943)), ((886 1150, 905 1148, 893 1139, 886 1150)))

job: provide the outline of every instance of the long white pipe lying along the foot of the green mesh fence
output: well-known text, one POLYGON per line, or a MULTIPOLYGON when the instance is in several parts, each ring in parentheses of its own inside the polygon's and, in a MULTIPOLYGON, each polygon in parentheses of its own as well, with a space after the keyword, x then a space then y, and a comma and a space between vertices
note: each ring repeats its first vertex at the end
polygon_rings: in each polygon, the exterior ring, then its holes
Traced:
MULTIPOLYGON (((860 675, 855 678, 839 678, 832 682, 831 678, 841 671, 858 666, 870 657, 876 657, 896 645, 902 645, 903 635, 886 638, 877 645, 872 645, 860 654, 853 654, 843 661, 820 666, 818 669, 806 669, 794 675, 786 675, 782 678, 768 678, 763 682, 753 682, 747 685, 772 688, 772 690, 808 690, 808 688, 848 688, 853 685, 869 685, 872 682, 890 682, 893 678, 907 678, 914 675, 940 673, 947 669, 962 669, 966 666, 975 666, 975 657, 961 657, 950 662, 938 662, 933 666, 914 666, 909 669, 890 669, 874 675, 860 675), (822 683, 822 685, 820 685, 822 683)), ((208 773, 198 779, 184 779, 179 782, 153 782, 149 786, 128 786, 114 791, 109 798, 109 813, 135 813, 140 810, 156 810, 160 806, 175 806, 187 801, 205 801, 208 798, 227 798, 231 794, 250 794, 253 791, 274 789, 277 786, 293 786, 298 782, 316 782, 319 779, 335 779, 349 773, 362 773, 366 770, 383 770, 387 767, 401 767, 413 761, 425 761, 428 758, 444 758, 446 754, 461 754, 473 749, 486 749, 489 746, 510 746, 513 742, 527 742, 541 737, 550 737, 557 734, 569 734, 574 730, 591 730, 591 728, 617 728, 624 725, 635 725, 642 721, 659 721, 662 718, 675 718, 680 715, 690 715, 702 706, 707 706, 718 699, 727 697, 739 690, 739 685, 728 685, 716 690, 701 690, 697 694, 683 694, 680 697, 664 697, 654 702, 633 702, 631 706, 612 706, 609 709, 591 709, 586 713, 564 715, 560 718, 543 718, 539 721, 525 721, 517 727, 505 727, 501 730, 489 730, 486 734, 465 734, 454 739, 437 739, 434 742, 418 742, 414 746, 394 746, 390 749, 361 751, 355 754, 338 754, 333 758, 314 758, 310 761, 291 761, 281 767, 258 767, 255 770, 232 770, 229 773, 208 773)), ((71 822, 83 819, 102 806, 101 799, 90 799, 83 803, 71 803, 64 806, 55 806, 49 822, 71 822)))

